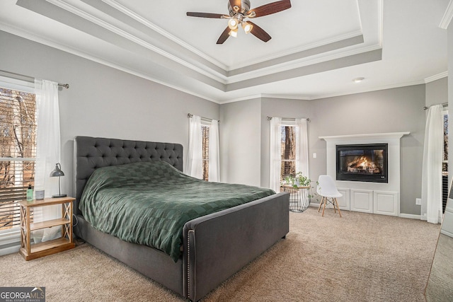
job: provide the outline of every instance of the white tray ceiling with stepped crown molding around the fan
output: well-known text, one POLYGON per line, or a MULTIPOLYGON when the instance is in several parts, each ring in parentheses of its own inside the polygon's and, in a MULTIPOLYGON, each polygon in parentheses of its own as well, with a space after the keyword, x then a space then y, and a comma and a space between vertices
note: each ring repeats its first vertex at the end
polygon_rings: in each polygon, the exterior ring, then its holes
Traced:
MULTIPOLYGON (((448 0, 293 0, 216 41, 228 1, 2 0, 0 30, 217 103, 269 96, 311 100, 446 76, 448 0), (352 79, 364 77, 361 83, 352 79)), ((255 8, 272 0, 251 0, 255 8)))

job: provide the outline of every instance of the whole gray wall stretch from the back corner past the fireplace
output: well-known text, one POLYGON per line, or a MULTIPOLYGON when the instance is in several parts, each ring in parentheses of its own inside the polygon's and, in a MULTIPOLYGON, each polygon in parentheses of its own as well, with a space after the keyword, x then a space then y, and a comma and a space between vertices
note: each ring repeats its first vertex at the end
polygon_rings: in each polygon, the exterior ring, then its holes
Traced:
POLYGON ((326 173, 323 136, 411 132, 401 139, 402 214, 420 215, 426 98, 445 97, 446 79, 319 100, 259 98, 220 106, 222 119, 222 181, 269 185, 269 121, 267 116, 309 117, 311 180, 326 173), (428 88, 427 88, 428 87, 428 88), (428 92, 425 90, 429 89, 428 92), (428 96, 427 96, 428 95, 428 96), (260 131, 260 139, 256 137, 260 131), (257 149, 260 144, 260 149, 257 149), (241 146, 241 150, 235 150, 241 146), (246 152, 243 152, 243 151, 246 152), (316 153, 316 158, 313 157, 316 153), (260 164, 257 160, 260 158, 260 164), (260 172, 258 172, 260 171, 260 172))

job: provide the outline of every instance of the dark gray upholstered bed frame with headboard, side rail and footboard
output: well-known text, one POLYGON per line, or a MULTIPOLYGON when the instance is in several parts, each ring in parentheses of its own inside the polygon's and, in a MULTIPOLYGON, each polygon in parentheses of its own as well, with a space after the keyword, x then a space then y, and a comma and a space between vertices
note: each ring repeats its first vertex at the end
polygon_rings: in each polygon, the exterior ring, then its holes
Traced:
POLYGON ((278 193, 185 223, 183 257, 127 243, 97 231, 79 212, 86 181, 96 168, 137 161, 166 161, 183 170, 180 144, 76 137, 74 140, 74 233, 147 277, 198 301, 270 248, 289 231, 289 195, 278 193))

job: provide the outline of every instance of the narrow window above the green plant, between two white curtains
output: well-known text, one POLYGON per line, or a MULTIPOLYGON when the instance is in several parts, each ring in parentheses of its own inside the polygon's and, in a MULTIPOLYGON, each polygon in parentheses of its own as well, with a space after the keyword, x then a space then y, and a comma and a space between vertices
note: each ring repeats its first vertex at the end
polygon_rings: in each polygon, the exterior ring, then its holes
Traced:
POLYGON ((282 166, 280 170, 280 180, 292 175, 295 176, 296 171, 296 141, 298 137, 299 127, 291 125, 280 126, 280 136, 282 145, 282 166))

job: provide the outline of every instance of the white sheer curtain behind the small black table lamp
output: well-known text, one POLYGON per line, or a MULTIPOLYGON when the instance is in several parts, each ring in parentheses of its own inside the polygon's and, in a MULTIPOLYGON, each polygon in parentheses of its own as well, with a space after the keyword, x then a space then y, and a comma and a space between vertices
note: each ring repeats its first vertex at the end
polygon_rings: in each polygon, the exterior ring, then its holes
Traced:
MULTIPOLYGON (((60 163, 60 132, 58 83, 35 79, 37 116, 37 143, 35 166, 35 191, 45 190, 45 197, 58 194, 58 180, 50 178, 50 172, 60 163)), ((64 167, 62 167, 64 171, 64 167)), ((55 209, 45 207, 43 215, 56 216, 55 209)), ((36 219, 39 215, 36 215, 36 219)))

